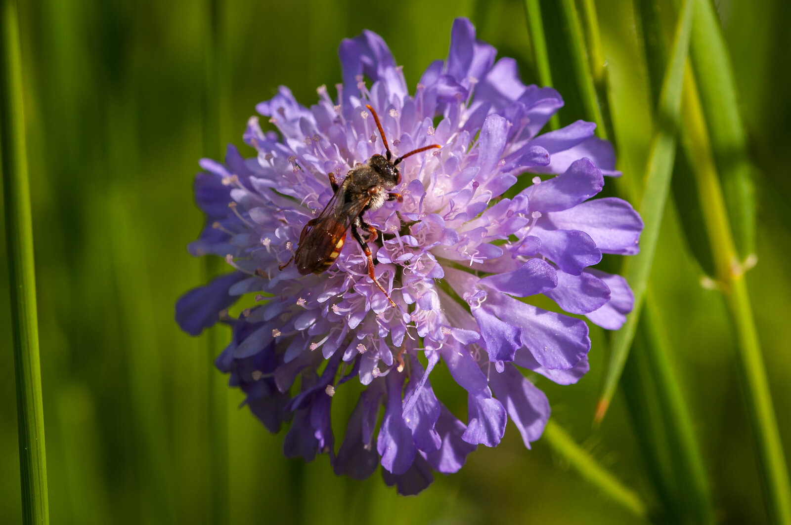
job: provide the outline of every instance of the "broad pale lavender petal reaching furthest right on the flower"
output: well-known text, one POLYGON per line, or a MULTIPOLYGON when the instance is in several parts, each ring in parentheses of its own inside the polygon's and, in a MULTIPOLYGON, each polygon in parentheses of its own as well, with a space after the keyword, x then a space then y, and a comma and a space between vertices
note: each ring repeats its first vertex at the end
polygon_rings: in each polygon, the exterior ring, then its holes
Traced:
POLYGON ((634 255, 640 251, 642 219, 623 199, 596 198, 571 210, 547 213, 546 217, 557 229, 579 229, 587 233, 605 253, 634 255))

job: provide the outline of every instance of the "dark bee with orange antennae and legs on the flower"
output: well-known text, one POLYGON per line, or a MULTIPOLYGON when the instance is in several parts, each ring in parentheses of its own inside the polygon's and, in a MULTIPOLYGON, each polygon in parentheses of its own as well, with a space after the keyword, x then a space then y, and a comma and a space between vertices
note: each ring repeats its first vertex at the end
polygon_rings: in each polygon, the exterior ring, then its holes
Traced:
POLYGON ((335 259, 346 242, 346 232, 351 229, 351 235, 362 248, 365 258, 368 259, 369 277, 395 308, 395 303, 387 290, 374 275, 371 249, 360 234, 361 230, 367 232, 368 240, 373 242, 377 240, 379 232, 365 222, 362 216, 368 210, 380 209, 385 201, 402 202, 401 194, 389 191, 401 182, 401 174, 396 166, 415 153, 441 146, 432 144, 414 149, 393 161, 388 139, 385 138, 382 124, 379 122, 379 116, 370 105, 366 107, 371 111, 377 128, 379 128, 379 134, 384 142, 384 155, 377 153, 365 161, 365 164, 355 164, 354 168, 346 173, 346 177, 340 184, 335 179, 335 174, 329 173, 330 186, 333 191, 330 202, 324 206, 319 217, 311 219, 305 224, 299 237, 297 251, 286 264, 280 266, 280 270, 294 261, 297 270, 302 275, 323 274, 332 266, 332 263, 335 263, 335 259))

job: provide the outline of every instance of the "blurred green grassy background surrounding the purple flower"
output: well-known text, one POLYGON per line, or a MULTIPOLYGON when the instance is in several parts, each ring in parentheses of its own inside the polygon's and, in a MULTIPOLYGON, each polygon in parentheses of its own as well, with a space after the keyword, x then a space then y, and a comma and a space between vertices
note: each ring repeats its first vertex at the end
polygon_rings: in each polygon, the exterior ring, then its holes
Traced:
MULTIPOLYGON (((241 144, 255 104, 278 85, 312 104, 317 86, 339 82, 337 46, 363 28, 384 37, 412 87, 431 60, 445 58, 457 16, 470 17, 499 56, 516 58, 525 83, 537 79, 524 3, 517 0, 219 4, 223 143, 241 144)), ((552 19, 551 2, 543 6, 552 19)), ((611 111, 622 130, 624 179, 615 185, 625 192, 645 172, 652 95, 632 2, 597 0, 596 8, 611 111)), ((791 451, 791 278, 784 263, 791 252, 791 4, 721 0, 717 9, 756 167, 759 263, 748 284, 791 451)), ((202 226, 191 180, 208 153, 202 144, 208 10, 189 0, 26 0, 20 17, 52 523, 208 523, 207 384, 210 375, 220 376, 210 356, 228 334, 219 333, 210 352, 205 337, 190 338, 173 321, 176 298, 203 279, 203 263, 186 245, 202 226)), ((554 24, 548 31, 564 30, 554 24)), ((567 102, 561 123, 570 123, 584 115, 565 52, 551 47, 550 57, 555 87, 567 102)), ((701 269, 677 217, 669 202, 651 289, 717 519, 763 523, 729 317, 721 296, 700 285, 701 269)), ((0 250, 5 246, 0 242, 0 250)), ((3 253, 0 522, 20 523, 7 275, 3 253)), ((601 428, 592 429, 607 360, 603 330, 592 329, 592 344, 591 372, 580 383, 541 380, 539 387, 554 421, 650 503, 656 495, 622 392, 601 428)), ((464 414, 464 398, 457 397, 451 405, 464 414)), ((335 478, 326 456, 309 464, 283 458, 282 435, 270 435, 248 410, 238 410, 241 400, 239 391, 227 391, 232 523, 636 520, 542 440, 526 451, 513 426, 498 448, 479 448, 460 473, 438 474, 430 489, 404 498, 378 473, 354 482, 335 478)))

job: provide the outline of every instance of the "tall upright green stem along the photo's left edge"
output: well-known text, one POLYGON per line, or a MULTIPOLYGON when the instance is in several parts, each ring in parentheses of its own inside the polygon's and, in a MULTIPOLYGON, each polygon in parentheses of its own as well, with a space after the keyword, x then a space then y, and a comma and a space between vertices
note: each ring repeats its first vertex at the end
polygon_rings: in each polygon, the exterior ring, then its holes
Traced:
POLYGON ((11 289, 13 363, 17 379, 19 466, 25 523, 49 523, 44 406, 41 399, 36 270, 25 151, 22 61, 17 5, 0 6, 0 148, 11 289))

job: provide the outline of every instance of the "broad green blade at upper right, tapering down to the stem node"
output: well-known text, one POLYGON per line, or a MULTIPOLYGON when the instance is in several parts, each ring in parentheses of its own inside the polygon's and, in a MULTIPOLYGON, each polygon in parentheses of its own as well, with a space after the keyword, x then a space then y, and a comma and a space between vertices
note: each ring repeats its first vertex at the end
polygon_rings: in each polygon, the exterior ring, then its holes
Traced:
POLYGON ((747 134, 736 96, 736 81, 714 3, 695 0, 690 57, 733 243, 740 261, 755 250, 755 197, 747 159, 747 134))

